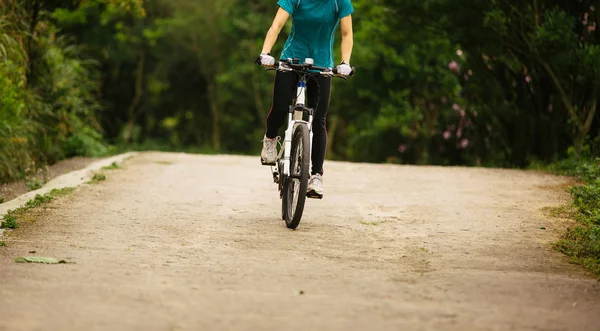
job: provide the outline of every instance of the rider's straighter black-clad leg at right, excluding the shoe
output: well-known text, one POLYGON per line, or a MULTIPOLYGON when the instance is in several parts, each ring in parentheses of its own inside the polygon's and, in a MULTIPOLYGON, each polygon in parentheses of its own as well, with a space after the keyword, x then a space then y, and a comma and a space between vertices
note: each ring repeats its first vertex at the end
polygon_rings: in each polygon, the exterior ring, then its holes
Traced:
POLYGON ((314 75, 308 79, 306 98, 308 107, 315 109, 313 118, 313 150, 311 175, 323 175, 323 163, 327 151, 327 110, 331 97, 331 78, 314 75))

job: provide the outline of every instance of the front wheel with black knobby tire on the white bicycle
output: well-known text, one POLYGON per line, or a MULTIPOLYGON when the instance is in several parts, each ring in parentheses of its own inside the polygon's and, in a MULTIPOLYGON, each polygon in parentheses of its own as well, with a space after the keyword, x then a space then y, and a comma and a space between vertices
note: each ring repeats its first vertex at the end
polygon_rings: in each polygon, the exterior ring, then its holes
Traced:
POLYGON ((285 225, 295 229, 300 224, 310 167, 310 140, 308 127, 304 124, 296 126, 292 135, 292 152, 290 155, 290 177, 284 182, 284 195, 282 204, 285 206, 283 216, 285 225), (295 203, 294 203, 295 202, 295 203))

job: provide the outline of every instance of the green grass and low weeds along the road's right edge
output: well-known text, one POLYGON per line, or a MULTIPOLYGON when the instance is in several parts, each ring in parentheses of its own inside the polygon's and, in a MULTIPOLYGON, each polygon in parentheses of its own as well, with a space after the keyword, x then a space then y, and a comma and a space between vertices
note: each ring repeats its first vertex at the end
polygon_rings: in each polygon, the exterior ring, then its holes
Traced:
POLYGON ((571 206, 551 210, 551 214, 576 220, 555 243, 560 252, 600 276, 600 158, 567 159, 548 167, 551 172, 575 176, 582 181, 570 189, 571 206))

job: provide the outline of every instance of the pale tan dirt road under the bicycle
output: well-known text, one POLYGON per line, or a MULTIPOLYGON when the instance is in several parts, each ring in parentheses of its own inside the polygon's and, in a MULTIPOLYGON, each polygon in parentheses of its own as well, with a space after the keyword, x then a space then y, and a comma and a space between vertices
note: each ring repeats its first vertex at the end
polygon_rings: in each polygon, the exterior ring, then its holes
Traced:
POLYGON ((290 231, 256 157, 139 154, 4 236, 0 330, 600 330, 600 283, 541 211, 565 179, 325 171, 290 231))

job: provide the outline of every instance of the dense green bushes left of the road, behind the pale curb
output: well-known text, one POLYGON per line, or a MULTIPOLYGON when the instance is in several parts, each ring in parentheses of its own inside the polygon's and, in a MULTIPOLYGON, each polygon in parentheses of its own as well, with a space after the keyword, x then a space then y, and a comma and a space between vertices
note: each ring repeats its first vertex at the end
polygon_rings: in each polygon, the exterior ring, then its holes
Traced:
POLYGON ((18 2, 0 6, 0 182, 57 160, 106 152, 96 66, 54 24, 18 2))

